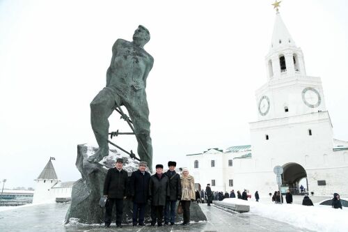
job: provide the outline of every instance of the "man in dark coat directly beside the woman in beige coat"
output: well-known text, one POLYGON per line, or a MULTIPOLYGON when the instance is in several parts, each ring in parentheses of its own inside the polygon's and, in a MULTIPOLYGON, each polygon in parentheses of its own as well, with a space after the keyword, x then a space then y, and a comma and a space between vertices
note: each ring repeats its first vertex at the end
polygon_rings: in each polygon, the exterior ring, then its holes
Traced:
POLYGON ((169 179, 169 194, 170 196, 166 199, 166 209, 164 212, 164 224, 168 225, 171 222, 171 225, 175 223, 175 208, 176 201, 181 199, 181 181, 180 175, 175 172, 176 162, 168 162, 168 171, 164 173, 169 179))

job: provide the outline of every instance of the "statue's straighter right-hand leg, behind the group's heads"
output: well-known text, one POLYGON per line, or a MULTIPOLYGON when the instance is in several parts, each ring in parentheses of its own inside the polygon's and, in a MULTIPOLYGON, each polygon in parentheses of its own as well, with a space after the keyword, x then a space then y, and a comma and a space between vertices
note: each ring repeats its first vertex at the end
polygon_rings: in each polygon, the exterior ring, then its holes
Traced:
POLYGON ((150 137, 149 109, 146 95, 141 99, 136 99, 132 103, 127 104, 126 108, 129 117, 132 119, 134 132, 137 134, 139 140, 138 155, 142 161, 148 162, 148 167, 152 170, 152 141, 150 137), (141 146, 141 143, 143 146, 141 146))

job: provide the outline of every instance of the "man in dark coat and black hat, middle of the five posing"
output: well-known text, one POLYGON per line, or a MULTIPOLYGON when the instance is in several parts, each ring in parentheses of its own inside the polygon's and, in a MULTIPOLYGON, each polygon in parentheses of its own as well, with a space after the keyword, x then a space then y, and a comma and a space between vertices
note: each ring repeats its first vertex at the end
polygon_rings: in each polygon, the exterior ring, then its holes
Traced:
POLYGON ((163 165, 156 165, 156 173, 151 176, 149 183, 149 197, 151 201, 151 226, 162 226, 163 209, 166 199, 170 197, 169 178, 163 173, 163 165))

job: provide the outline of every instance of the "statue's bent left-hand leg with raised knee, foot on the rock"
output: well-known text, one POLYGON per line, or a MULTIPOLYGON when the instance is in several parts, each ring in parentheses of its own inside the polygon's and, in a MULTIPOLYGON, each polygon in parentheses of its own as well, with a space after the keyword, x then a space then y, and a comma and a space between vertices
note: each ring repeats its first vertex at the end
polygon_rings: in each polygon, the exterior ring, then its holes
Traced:
POLYGON ((92 125, 99 150, 88 158, 90 162, 99 162, 109 155, 109 116, 115 109, 116 93, 111 88, 103 88, 90 102, 90 124, 92 125))

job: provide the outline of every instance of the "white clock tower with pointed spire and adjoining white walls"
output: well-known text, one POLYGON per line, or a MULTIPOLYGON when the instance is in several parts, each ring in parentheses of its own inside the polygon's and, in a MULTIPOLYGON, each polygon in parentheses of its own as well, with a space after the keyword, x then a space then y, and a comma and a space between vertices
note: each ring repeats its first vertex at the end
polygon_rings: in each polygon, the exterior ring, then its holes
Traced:
POLYGON ((204 169, 205 173, 200 173, 200 168, 196 171, 192 160, 199 160, 206 167, 214 155, 187 155, 193 176, 197 174, 205 185, 213 177, 219 179, 217 191, 258 190, 265 196, 278 190, 274 167, 279 165, 284 170, 283 187, 293 192, 299 181, 306 178, 303 187, 308 192, 317 195, 338 192, 347 196, 348 143, 333 139, 321 79, 306 74, 303 52, 279 13, 264 63, 267 82, 255 93, 258 121, 250 123, 252 155, 233 157, 228 150, 215 153, 221 166, 204 169), (233 166, 224 169, 230 158, 233 166), (224 189, 230 180, 233 187, 224 189))

